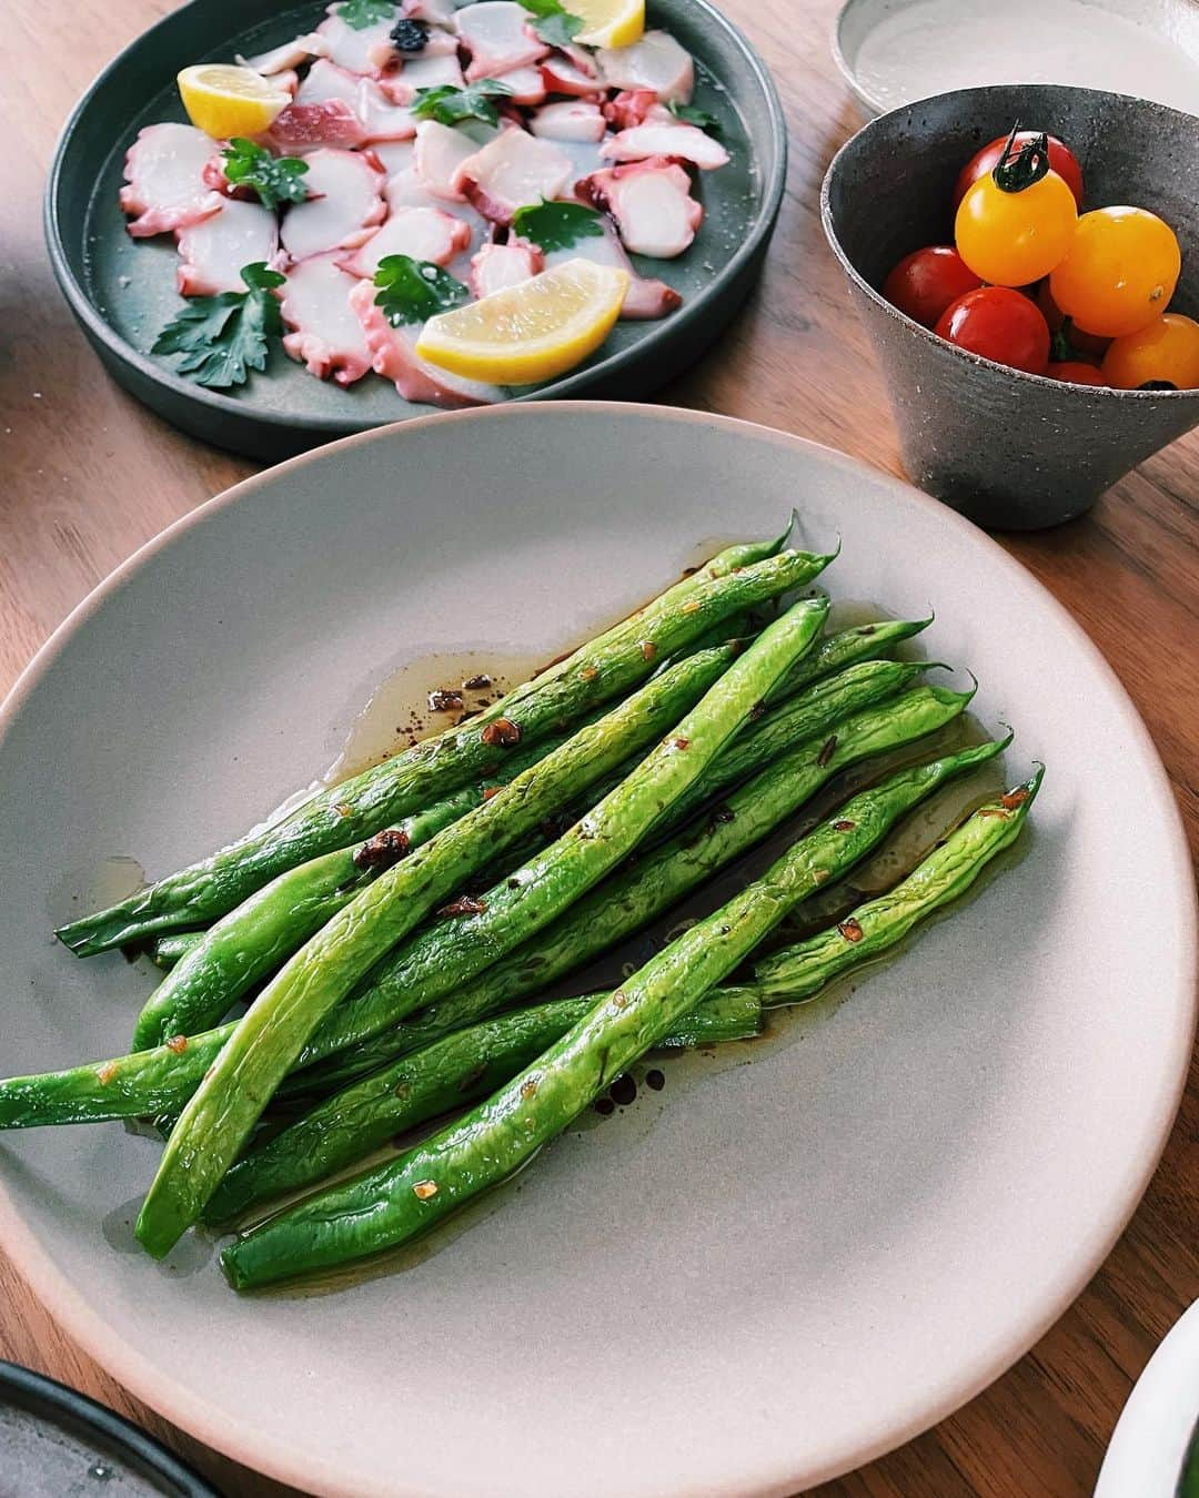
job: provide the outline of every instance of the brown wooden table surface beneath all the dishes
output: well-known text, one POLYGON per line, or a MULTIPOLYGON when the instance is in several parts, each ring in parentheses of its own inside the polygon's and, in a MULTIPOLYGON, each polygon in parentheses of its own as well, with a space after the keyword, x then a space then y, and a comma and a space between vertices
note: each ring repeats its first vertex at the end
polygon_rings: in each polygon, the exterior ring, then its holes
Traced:
MULTIPOLYGON (((6 0, 0 124, 0 692, 135 547, 253 472, 180 436, 102 372, 51 279, 40 195, 54 139, 99 67, 166 0, 6 0)), ((800 433, 901 473, 878 370, 820 229, 818 189, 860 120, 829 54, 836 0, 725 0, 772 67, 791 124, 782 219, 734 330, 664 400, 800 433)), ((1001 538, 1099 644, 1145 718, 1199 848, 1199 431, 1085 520, 1001 538), (1130 623, 1132 622, 1132 623, 1130 623)), ((1162 1165, 1108 1263, 1045 1339, 937 1429, 820 1498, 1090 1494, 1120 1408, 1199 1296, 1199 1071, 1162 1165)), ((199 1449, 51 1323, 0 1258, 0 1356, 102 1399, 229 1495, 277 1485, 199 1449)), ((0 1488, 3 1488, 0 1458, 0 1488)))

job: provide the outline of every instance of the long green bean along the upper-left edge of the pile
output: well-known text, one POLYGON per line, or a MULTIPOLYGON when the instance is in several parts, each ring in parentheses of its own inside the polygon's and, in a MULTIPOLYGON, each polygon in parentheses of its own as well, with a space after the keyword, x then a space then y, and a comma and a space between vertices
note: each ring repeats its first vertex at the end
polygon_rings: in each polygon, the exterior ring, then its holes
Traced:
POLYGON ((722 559, 730 554, 742 556, 745 548, 722 553, 719 565, 712 563, 703 574, 676 584, 477 718, 319 791, 268 827, 106 911, 69 923, 57 932, 58 938, 78 956, 88 956, 154 932, 207 924, 285 869, 363 842, 432 798, 495 771, 514 736, 534 743, 559 733, 643 682, 655 659, 698 640, 721 619, 800 587, 829 560, 782 551, 727 571, 722 559), (713 569, 721 575, 710 575, 713 569))

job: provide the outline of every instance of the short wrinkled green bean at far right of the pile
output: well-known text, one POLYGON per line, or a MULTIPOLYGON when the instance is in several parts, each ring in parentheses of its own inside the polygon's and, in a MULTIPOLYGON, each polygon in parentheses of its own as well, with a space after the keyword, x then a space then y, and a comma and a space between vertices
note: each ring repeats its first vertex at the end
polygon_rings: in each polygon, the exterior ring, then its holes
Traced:
POLYGON ((1043 776, 1039 767, 1031 779, 980 806, 893 890, 859 905, 832 930, 763 959, 754 968, 752 992, 764 1005, 797 1004, 848 968, 895 947, 917 921, 964 894, 986 864, 1012 846, 1043 776))

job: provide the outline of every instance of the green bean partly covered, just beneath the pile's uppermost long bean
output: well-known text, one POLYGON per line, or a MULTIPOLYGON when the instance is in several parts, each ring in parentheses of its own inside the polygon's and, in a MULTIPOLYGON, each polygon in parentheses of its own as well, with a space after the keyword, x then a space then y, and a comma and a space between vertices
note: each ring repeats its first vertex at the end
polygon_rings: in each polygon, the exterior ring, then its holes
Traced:
POLYGON ((216 1025, 237 999, 270 977, 384 869, 564 743, 559 734, 522 746, 493 776, 454 791, 366 843, 310 858, 255 890, 210 926, 154 989, 138 1017, 132 1049, 145 1050, 172 1035, 195 1035, 216 1025))

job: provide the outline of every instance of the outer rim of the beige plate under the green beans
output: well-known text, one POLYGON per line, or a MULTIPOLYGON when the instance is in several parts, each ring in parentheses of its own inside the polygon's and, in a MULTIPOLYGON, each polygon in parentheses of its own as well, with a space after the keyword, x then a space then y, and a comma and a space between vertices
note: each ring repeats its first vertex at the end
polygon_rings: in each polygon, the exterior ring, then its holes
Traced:
MULTIPOLYGON (((875 1429, 871 1440, 862 1441, 853 1450, 847 1449, 832 1456, 818 1473, 803 1473, 803 1485, 811 1486, 863 1467, 886 1452, 895 1450, 925 1431, 929 1431, 989 1387, 1040 1341, 1049 1327, 1075 1303, 1090 1279, 1094 1278, 1141 1204, 1172 1132, 1187 1083, 1196 1019, 1199 1017, 1199 894, 1196 894, 1192 876, 1190 849, 1183 816, 1157 746, 1120 677, 1082 626, 1075 622, 1066 607, 1058 602, 1028 568, 1022 566, 992 536, 971 524, 965 517, 907 481, 896 478, 893 473, 866 463, 865 458, 851 457, 824 443, 784 431, 778 427, 769 427, 763 422, 688 407, 652 403, 629 404, 610 400, 529 401, 519 406, 486 406, 472 410, 417 416, 405 422, 391 422, 385 427, 354 433, 339 442, 301 452, 283 463, 253 473, 214 494, 138 547, 132 556, 121 562, 75 605, 21 671, 6 698, 0 703, 0 753, 3 752, 9 725, 24 709, 40 679, 57 662, 58 655, 75 631, 150 559, 169 547, 178 535, 192 526, 202 524, 211 515, 243 502, 247 496, 253 496, 259 487, 286 482, 288 476, 301 464, 319 463, 325 457, 336 461, 337 454, 351 445, 402 440, 414 428, 414 424, 427 425, 429 422, 439 422, 450 431, 453 422, 469 424, 522 418, 546 419, 547 416, 553 421, 570 422, 577 412, 604 415, 613 421, 647 418, 650 422, 716 425, 730 433, 749 436, 755 442, 764 440, 817 454, 821 461, 832 463, 850 472, 860 475, 865 470, 872 482, 881 482, 884 487, 901 494, 907 502, 917 505, 917 508, 935 512, 952 530, 956 529, 961 533, 970 532, 973 542, 991 553, 992 562, 1013 578, 1019 578, 1024 586, 1031 586, 1042 595, 1042 601, 1058 628, 1072 640, 1076 649, 1090 658, 1093 667, 1106 679, 1115 704, 1123 715, 1124 727, 1138 740, 1148 771, 1156 780, 1156 800, 1166 812, 1163 819, 1165 860, 1171 864, 1169 887, 1178 891, 1178 906, 1183 917, 1174 927, 1174 936, 1177 950, 1183 959, 1181 971, 1186 972, 1189 969, 1192 981, 1189 993, 1178 995, 1180 1008, 1189 1004, 1189 1013, 1184 1014, 1184 1022, 1177 1037, 1174 1085, 1163 1089, 1157 1100, 1151 1126, 1147 1125, 1151 1147, 1142 1155, 1141 1170, 1135 1177, 1130 1174, 1129 1180, 1121 1185, 1121 1194, 1112 1200, 1105 1222, 1087 1240, 1087 1251, 1076 1255, 1073 1272, 1066 1276, 1067 1282, 1063 1290, 1057 1294, 1048 1290, 1043 1296, 1043 1303, 1039 1302, 1025 1306, 1019 1317, 1009 1321, 1003 1335, 995 1338, 976 1357, 971 1368, 961 1371, 956 1377, 943 1375, 938 1389, 920 1402, 919 1410, 908 1405, 907 1410, 896 1411, 886 1428, 878 1426, 875 1429)), ((231 1459, 243 1462, 246 1467, 279 1482, 291 1483, 301 1491, 321 1492, 330 1495, 330 1498, 364 1498, 367 1489, 363 1489, 361 1485, 348 1486, 345 1474, 327 1458, 295 1453, 294 1447, 286 1441, 274 1441, 234 1423, 228 1411, 213 1405, 204 1396, 192 1395, 169 1378, 169 1375, 163 1377, 162 1369, 156 1368, 136 1348, 121 1338, 114 1339, 103 1318, 93 1311, 84 1294, 55 1267, 33 1230, 21 1219, 3 1179, 0 1179, 0 1248, 7 1254, 18 1275, 30 1285, 51 1317, 67 1335, 117 1378, 123 1387, 163 1419, 231 1459)), ((784 1498, 784 1495, 794 1492, 794 1473, 793 1462, 790 1470, 775 1468, 772 1471, 758 1470, 746 1473, 745 1483, 704 1488, 704 1492, 709 1498, 737 1498, 737 1495, 749 1492, 784 1498)), ((396 1489, 390 1488, 375 1491, 379 1494, 379 1498, 384 1498, 384 1495, 394 1498, 396 1494, 396 1489)), ((403 1491, 408 1498, 417 1498, 420 1492, 415 1488, 403 1491)), ((679 1489, 679 1492, 682 1494, 683 1491, 679 1489)))

